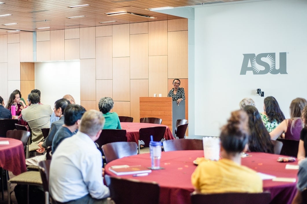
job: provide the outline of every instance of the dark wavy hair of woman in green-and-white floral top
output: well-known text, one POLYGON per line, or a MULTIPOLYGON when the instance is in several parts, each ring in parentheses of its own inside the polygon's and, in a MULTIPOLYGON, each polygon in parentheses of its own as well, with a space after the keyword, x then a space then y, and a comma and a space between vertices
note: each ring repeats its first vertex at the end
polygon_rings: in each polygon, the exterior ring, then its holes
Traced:
POLYGON ((264 106, 266 107, 266 115, 269 118, 269 122, 276 120, 278 123, 281 123, 285 120, 285 115, 282 113, 277 100, 273 96, 268 96, 264 99, 264 106))

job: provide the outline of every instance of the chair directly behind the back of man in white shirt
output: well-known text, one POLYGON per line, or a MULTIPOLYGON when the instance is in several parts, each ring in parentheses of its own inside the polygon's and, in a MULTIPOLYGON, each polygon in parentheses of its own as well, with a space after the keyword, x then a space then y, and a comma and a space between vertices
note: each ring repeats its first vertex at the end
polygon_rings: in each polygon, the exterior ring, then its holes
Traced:
POLYGON ((38 170, 41 175, 41 180, 43 182, 43 189, 45 193, 45 204, 49 204, 50 200, 52 203, 52 198, 49 195, 49 170, 50 170, 51 160, 44 160, 38 163, 38 170))

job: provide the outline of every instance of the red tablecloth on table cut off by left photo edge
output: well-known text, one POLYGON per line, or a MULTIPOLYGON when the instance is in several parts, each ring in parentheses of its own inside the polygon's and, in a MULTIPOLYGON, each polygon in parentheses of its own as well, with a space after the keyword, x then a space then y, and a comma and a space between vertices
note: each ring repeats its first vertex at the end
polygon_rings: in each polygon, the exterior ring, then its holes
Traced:
POLYGON ((15 176, 26 172, 25 152, 20 140, 0 138, 0 141, 9 141, 9 145, 0 145, 0 166, 13 172, 15 176))

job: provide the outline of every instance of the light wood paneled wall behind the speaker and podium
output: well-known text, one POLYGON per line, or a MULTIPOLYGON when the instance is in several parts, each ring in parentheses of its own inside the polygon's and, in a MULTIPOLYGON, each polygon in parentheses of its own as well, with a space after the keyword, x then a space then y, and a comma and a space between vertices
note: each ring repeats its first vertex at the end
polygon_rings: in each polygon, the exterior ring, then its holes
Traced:
MULTIPOLYGON (((99 99, 109 96, 113 111, 138 122, 139 97, 166 97, 179 78, 188 112, 187 19, 37 32, 35 43, 37 61, 80 60, 86 109, 98 109, 99 99)), ((27 94, 34 88, 33 63, 20 62, 33 62, 33 34, 1 35, 0 46, 0 95, 16 88, 27 94)))

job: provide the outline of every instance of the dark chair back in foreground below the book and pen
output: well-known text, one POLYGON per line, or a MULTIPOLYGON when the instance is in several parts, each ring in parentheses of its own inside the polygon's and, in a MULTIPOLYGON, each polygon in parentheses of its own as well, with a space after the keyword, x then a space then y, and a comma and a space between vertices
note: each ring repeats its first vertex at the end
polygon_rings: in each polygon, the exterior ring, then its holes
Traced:
POLYGON ((104 176, 110 189, 111 199, 115 203, 158 204, 160 187, 154 181, 140 181, 121 177, 104 176))

